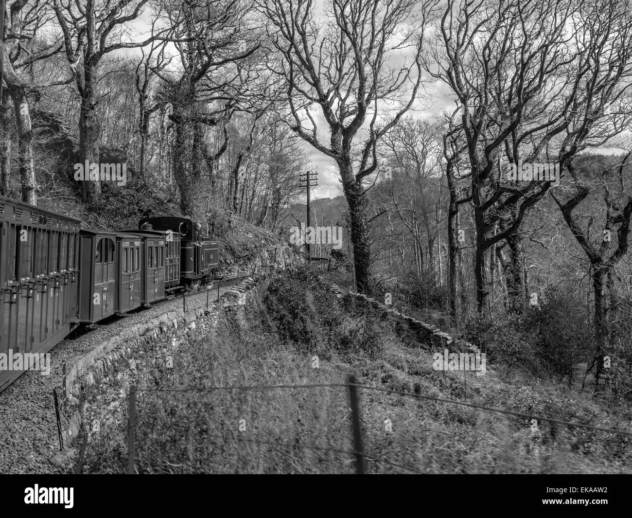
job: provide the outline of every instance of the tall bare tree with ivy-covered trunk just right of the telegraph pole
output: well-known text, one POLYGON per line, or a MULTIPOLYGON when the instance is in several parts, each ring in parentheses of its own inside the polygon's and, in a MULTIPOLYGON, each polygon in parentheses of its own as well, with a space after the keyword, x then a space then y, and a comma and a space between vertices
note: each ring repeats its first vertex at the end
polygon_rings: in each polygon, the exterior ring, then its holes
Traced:
POLYGON ((270 21, 279 59, 270 70, 286 85, 291 128, 334 159, 351 220, 356 285, 370 276, 367 199, 363 180, 378 165, 377 143, 411 108, 422 83, 424 30, 435 1, 332 0, 327 15, 312 0, 271 0, 259 6, 270 21), (402 95, 409 89, 403 101, 402 95), (395 109, 385 106, 392 102, 395 109), (313 113, 320 108, 328 143, 313 113))

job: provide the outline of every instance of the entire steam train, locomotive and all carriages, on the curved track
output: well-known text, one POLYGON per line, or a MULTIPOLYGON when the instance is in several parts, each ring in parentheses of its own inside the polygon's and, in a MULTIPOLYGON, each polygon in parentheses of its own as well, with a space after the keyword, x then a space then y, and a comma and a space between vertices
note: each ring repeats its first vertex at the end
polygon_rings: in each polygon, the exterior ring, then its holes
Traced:
POLYGON ((198 288, 217 268, 219 244, 187 218, 109 232, 0 197, 0 224, 0 392, 76 327, 198 288))

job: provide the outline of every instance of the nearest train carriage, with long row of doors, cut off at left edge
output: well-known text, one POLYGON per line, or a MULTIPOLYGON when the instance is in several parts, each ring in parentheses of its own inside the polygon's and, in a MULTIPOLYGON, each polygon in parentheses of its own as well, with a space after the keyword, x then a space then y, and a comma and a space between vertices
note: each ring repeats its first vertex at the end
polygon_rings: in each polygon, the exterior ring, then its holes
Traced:
POLYGON ((0 197, 0 392, 78 323, 79 223, 0 197))

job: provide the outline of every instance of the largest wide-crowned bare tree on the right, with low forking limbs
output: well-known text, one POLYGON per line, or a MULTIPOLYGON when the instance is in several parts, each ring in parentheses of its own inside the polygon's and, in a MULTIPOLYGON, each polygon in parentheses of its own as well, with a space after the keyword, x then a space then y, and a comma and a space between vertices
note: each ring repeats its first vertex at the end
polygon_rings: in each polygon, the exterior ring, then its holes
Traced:
MULTIPOLYGON (((471 168, 471 200, 475 222, 475 279, 477 304, 482 311, 487 290, 485 252, 502 240, 514 245, 512 272, 507 282, 516 296, 520 284, 520 249, 516 233, 530 207, 541 200, 552 182, 508 181, 502 157, 512 164, 556 159, 559 170, 573 156, 573 148, 586 132, 571 132, 573 118, 592 121, 592 94, 607 95, 613 83, 607 74, 593 75, 593 53, 604 34, 590 44, 581 13, 590 11, 607 24, 599 6, 582 8, 575 0, 501 0, 486 2, 449 0, 437 35, 437 51, 428 70, 442 78, 461 106, 461 125, 471 168), (582 10, 583 9, 583 10, 582 10), (588 94, 585 94, 585 89, 588 94), (572 116, 569 116, 572 114, 572 116)), ((622 26, 616 23, 617 29, 622 26)), ((625 33, 629 32, 624 30, 625 33)), ((614 33, 611 33, 614 34, 614 33)), ((627 37, 624 35, 623 37, 627 37)), ((603 40, 601 40, 603 43, 603 40)), ((601 58, 600 58, 601 59, 601 58)), ((627 56, 610 56, 616 70, 628 67, 627 56), (623 62, 617 64, 617 59, 623 62)), ((591 126, 593 122, 588 123, 591 126)))

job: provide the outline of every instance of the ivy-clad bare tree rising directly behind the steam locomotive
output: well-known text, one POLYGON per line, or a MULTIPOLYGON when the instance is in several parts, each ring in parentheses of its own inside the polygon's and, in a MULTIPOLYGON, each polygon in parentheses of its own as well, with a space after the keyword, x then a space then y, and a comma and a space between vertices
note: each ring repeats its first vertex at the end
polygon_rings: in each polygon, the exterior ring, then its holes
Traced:
MULTIPOLYGON (((256 23, 249 20, 248 0, 173 0, 165 11, 181 71, 154 71, 166 83, 164 102, 173 111, 169 120, 176 139, 173 164, 181 211, 194 216, 202 164, 208 164, 212 176, 214 164, 226 151, 222 146, 211 156, 206 129, 225 125, 236 111, 256 111, 245 89, 257 81, 257 67, 250 67, 249 59, 254 59, 260 44, 256 23)), ((224 132, 224 144, 228 136, 224 132)))

